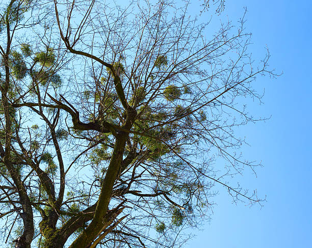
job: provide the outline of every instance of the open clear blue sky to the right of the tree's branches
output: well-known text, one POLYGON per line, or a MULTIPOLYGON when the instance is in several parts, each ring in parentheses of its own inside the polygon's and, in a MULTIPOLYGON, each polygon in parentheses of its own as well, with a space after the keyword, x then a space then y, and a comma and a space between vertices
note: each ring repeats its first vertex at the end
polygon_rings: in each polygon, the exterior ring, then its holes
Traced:
POLYGON ((194 230, 197 237, 186 247, 312 247, 312 4, 227 0, 219 18, 235 21, 244 6, 254 56, 261 58, 268 45, 271 68, 283 71, 277 79, 255 82, 265 89, 265 104, 251 104, 250 112, 271 119, 239 130, 251 145, 243 152, 264 164, 257 178, 247 171, 239 181, 267 195, 267 202, 263 208, 231 204, 220 188, 210 224, 194 230))

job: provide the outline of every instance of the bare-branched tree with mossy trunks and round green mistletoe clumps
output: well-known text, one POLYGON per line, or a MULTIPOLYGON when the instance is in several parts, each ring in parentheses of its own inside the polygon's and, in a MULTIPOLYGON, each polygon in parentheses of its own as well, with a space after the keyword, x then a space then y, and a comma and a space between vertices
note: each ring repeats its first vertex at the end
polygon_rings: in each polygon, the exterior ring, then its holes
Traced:
MULTIPOLYGON (((223 3, 223 2, 222 2, 223 3)), ((267 69, 251 34, 188 2, 11 0, 0 32, 0 209, 15 247, 175 247, 215 184, 257 163, 234 131, 267 69), (217 163, 216 163, 217 161, 217 163), (222 164, 220 164, 222 161, 222 164), (216 164, 215 164, 216 163, 216 164)), ((186 238, 183 238, 186 237, 186 238)))

